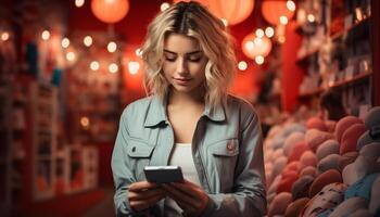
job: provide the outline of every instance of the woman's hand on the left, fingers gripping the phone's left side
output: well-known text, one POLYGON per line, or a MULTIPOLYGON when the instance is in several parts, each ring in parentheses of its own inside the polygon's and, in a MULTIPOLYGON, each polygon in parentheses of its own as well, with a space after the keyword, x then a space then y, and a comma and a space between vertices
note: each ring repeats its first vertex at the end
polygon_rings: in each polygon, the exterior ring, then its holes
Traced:
POLYGON ((149 208, 165 196, 164 189, 148 181, 135 182, 129 186, 128 191, 129 205, 135 212, 149 208))

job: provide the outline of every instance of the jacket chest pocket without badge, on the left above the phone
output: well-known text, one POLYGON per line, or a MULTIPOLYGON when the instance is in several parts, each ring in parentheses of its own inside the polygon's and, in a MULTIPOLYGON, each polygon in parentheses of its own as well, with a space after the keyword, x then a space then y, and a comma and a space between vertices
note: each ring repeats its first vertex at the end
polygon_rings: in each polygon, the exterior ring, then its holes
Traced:
POLYGON ((138 181, 145 180, 143 168, 149 165, 154 145, 144 141, 129 140, 127 146, 128 158, 130 159, 131 170, 138 181))

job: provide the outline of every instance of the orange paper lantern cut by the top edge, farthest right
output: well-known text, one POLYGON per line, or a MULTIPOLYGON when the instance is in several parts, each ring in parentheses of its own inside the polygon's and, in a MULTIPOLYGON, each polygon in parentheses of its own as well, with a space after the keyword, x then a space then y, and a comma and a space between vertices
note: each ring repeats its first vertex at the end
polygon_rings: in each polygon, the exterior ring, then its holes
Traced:
POLYGON ((262 14, 268 23, 279 25, 281 16, 286 16, 289 21, 293 17, 294 11, 288 9, 286 0, 264 0, 262 14))

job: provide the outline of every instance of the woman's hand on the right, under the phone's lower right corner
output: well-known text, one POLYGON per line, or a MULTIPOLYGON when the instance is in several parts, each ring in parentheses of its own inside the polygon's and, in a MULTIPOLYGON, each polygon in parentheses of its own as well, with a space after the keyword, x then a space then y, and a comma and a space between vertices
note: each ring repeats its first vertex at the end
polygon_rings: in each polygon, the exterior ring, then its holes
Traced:
POLYGON ((173 182, 162 187, 189 216, 200 216, 207 206, 208 195, 201 187, 190 181, 173 182))

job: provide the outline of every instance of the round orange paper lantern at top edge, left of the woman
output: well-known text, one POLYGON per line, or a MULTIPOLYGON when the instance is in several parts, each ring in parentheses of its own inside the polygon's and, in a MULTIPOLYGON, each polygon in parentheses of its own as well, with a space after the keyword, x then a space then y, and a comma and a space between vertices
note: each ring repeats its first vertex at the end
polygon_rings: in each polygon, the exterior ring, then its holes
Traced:
POLYGON ((128 0, 92 0, 91 10, 94 16, 104 23, 117 23, 128 13, 128 0))

